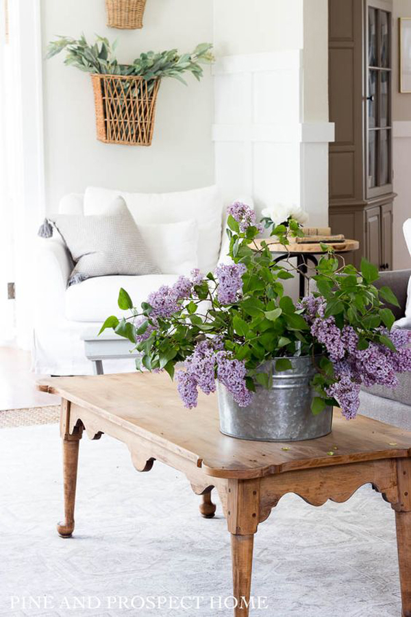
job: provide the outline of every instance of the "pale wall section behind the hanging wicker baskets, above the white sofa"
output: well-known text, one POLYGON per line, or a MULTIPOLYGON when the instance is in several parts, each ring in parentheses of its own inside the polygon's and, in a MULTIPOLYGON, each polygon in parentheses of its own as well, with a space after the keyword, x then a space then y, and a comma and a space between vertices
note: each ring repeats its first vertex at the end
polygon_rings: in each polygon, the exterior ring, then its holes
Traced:
MULTIPOLYGON (((55 35, 89 40, 95 33, 119 38, 122 62, 141 51, 177 47, 191 51, 212 42, 212 3, 201 0, 151 0, 140 30, 105 26, 103 0, 41 0, 42 42, 55 35)), ((109 145, 95 137, 95 112, 90 76, 63 65, 63 56, 43 66, 45 92, 45 176, 47 210, 69 192, 88 184, 142 192, 177 191, 214 182, 212 78, 210 67, 188 87, 175 80, 160 86, 151 147, 109 145)))

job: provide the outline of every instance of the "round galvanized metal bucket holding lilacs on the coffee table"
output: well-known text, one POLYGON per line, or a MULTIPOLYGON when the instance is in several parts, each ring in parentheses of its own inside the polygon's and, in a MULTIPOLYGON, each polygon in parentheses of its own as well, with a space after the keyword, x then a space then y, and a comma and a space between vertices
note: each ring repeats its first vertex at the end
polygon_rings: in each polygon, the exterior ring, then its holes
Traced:
POLYGON ((316 374, 312 357, 290 358, 292 369, 282 372, 275 372, 275 361, 259 369, 272 372, 273 386, 257 386, 248 407, 239 407, 217 382, 221 433, 256 441, 303 441, 331 433, 332 407, 325 407, 319 415, 311 411, 315 393, 310 383, 316 374))

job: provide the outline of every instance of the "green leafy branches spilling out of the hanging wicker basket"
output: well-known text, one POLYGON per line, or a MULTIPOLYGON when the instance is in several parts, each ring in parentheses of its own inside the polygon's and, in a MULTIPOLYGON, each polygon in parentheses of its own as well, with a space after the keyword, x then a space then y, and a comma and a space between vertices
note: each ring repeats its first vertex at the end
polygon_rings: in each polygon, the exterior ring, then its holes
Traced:
POLYGON ((103 36, 97 36, 93 45, 87 43, 84 34, 78 40, 59 36, 57 40, 49 43, 47 58, 52 58, 65 50, 64 64, 75 66, 86 73, 136 75, 143 77, 147 82, 173 77, 183 84, 186 84, 182 77, 183 73, 192 73, 197 80, 200 80, 203 76, 201 65, 210 64, 214 60, 211 52, 212 44, 200 43, 192 53, 180 55, 177 49, 159 53, 147 51, 141 53, 130 64, 121 64, 114 55, 116 46, 117 41, 110 45, 109 40, 103 36))

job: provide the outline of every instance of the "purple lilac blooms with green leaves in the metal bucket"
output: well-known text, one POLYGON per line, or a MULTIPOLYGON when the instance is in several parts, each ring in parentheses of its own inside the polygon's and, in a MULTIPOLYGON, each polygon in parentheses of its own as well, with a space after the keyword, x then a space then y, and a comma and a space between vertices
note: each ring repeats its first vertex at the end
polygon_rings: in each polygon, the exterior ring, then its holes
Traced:
MULTIPOLYGON (((275 359, 275 372, 282 372, 291 368, 290 357, 310 355, 316 365, 312 412, 331 404, 347 419, 356 417, 362 384, 395 387, 397 374, 411 371, 410 332, 392 330, 387 304, 397 299, 388 287, 373 285, 375 266, 363 260, 358 271, 323 245, 325 254, 308 278, 316 289, 295 303, 282 284, 296 274, 290 259, 275 263, 266 241, 256 243, 262 225, 247 205, 236 202, 228 213, 232 263, 206 276, 199 270, 180 276, 140 309, 120 290, 119 307, 130 314, 108 317, 101 331, 113 328, 136 344, 138 370, 175 376, 188 409, 197 406, 199 390, 216 391, 216 380, 248 407, 257 388, 271 387, 265 363, 275 359), (177 363, 184 370, 175 374, 177 363)), ((280 225, 268 217, 262 222, 285 252, 288 238, 302 235, 292 216, 280 225)))

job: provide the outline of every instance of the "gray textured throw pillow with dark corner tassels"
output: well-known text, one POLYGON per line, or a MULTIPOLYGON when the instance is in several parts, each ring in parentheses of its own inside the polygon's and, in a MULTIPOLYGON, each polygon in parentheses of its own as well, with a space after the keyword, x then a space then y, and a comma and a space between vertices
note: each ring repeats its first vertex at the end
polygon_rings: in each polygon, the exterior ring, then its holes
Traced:
POLYGON ((123 197, 103 215, 55 215, 49 221, 75 263, 68 285, 93 276, 160 274, 123 197))

